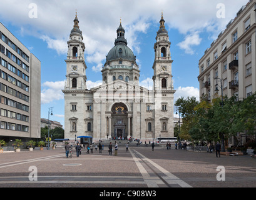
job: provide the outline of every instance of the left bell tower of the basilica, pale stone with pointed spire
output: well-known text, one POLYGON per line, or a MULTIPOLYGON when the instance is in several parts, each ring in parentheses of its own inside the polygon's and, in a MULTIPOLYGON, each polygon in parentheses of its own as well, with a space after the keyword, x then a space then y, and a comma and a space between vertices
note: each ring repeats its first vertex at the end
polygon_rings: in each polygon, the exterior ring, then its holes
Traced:
POLYGON ((84 49, 82 31, 79 29, 79 21, 76 12, 74 26, 68 41, 68 54, 66 61, 65 89, 86 89, 86 64, 84 61, 84 49))

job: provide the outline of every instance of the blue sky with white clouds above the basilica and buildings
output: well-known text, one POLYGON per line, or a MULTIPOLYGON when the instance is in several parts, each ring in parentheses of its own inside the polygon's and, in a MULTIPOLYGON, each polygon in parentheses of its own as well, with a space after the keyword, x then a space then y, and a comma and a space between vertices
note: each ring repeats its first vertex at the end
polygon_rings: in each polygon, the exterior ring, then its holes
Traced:
POLYGON ((86 46, 89 88, 101 81, 100 69, 108 51, 114 46, 120 17, 128 47, 133 50, 140 66, 140 84, 151 88, 155 56, 153 45, 163 11, 172 42, 172 74, 177 99, 181 96, 198 98, 199 59, 247 2, 0 0, 0 21, 41 61, 41 118, 48 118, 48 108, 53 107, 50 119, 64 125, 64 96, 61 92, 66 79, 64 59, 76 10, 86 46))

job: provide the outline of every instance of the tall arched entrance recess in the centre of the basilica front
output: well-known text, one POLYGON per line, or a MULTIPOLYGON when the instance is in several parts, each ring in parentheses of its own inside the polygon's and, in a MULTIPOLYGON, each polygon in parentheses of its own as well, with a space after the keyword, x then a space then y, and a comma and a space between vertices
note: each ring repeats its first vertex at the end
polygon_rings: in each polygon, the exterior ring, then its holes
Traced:
POLYGON ((127 138, 128 109, 123 103, 116 103, 111 109, 111 137, 127 138))

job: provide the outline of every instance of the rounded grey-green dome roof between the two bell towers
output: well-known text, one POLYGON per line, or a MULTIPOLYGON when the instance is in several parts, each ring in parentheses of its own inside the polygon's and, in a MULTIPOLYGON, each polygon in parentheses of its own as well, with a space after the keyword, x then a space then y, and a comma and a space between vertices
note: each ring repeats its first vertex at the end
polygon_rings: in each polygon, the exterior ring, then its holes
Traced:
POLYGON ((136 61, 136 56, 133 54, 133 51, 125 44, 116 44, 116 46, 110 50, 108 56, 106 56, 106 61, 120 58, 136 61))

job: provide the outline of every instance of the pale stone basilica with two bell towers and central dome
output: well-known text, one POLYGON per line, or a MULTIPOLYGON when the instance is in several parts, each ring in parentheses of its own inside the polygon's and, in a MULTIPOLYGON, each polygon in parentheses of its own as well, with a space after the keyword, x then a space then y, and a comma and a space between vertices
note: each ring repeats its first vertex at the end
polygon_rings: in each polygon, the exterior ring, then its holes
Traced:
POLYGON ((115 46, 106 56, 102 84, 86 87, 85 44, 76 14, 68 41, 64 93, 65 138, 91 136, 94 140, 110 137, 152 140, 173 136, 173 80, 168 32, 163 14, 156 32, 153 89, 139 85, 140 68, 128 47, 121 22, 115 46))

